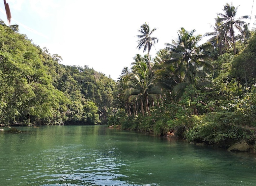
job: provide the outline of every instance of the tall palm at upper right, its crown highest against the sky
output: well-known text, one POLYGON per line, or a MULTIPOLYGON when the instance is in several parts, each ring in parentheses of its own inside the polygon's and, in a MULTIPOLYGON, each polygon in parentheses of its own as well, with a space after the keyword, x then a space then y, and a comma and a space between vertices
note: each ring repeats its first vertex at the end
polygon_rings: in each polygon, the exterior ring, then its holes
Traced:
MULTIPOLYGON (((238 7, 237 7, 238 8, 238 7)), ((233 47, 234 47, 234 54, 236 55, 236 46, 235 46, 235 32, 234 32, 234 27, 236 29, 238 29, 242 34, 244 32, 244 30, 242 29, 242 26, 245 24, 244 21, 242 21, 242 19, 247 19, 249 18, 248 15, 244 15, 239 17, 238 19, 235 19, 236 13, 237 13, 237 8, 235 8, 232 5, 229 5, 228 3, 226 3, 226 5, 224 6, 224 13, 217 13, 219 16, 217 18, 217 22, 223 22, 218 29, 224 29, 226 34, 229 34, 232 42, 233 42, 233 47)))

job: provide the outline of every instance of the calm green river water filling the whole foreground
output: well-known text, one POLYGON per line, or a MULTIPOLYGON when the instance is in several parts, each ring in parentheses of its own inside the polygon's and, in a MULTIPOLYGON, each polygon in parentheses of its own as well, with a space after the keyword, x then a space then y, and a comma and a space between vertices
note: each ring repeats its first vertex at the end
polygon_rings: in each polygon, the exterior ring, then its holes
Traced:
POLYGON ((0 131, 0 185, 256 185, 249 153, 106 126, 0 131))

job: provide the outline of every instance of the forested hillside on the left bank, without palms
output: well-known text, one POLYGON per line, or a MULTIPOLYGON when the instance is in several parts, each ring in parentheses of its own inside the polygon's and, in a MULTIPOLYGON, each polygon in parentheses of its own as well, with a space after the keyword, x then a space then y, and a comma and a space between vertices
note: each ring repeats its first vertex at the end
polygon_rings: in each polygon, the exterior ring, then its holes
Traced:
POLYGON ((104 123, 114 81, 61 61, 1 21, 0 124, 104 123))

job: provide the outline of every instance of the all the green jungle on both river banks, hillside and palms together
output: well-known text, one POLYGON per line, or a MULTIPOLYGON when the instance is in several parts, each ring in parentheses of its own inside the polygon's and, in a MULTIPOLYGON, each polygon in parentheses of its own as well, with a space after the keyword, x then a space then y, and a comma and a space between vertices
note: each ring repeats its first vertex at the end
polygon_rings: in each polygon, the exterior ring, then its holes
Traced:
POLYGON ((108 123, 209 145, 255 144, 256 31, 232 3, 223 11, 212 32, 182 27, 155 57, 156 28, 141 25, 137 48, 146 55, 136 54, 117 82, 86 65, 61 65, 61 56, 0 21, 0 124, 108 123))

